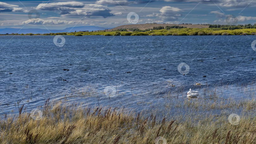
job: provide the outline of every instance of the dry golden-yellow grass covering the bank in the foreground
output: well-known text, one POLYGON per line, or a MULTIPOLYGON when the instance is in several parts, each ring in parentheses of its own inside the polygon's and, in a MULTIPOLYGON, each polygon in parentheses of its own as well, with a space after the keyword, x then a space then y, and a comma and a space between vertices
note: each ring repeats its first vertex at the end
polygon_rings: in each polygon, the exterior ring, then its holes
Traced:
MULTIPOLYGON (((190 106, 193 107, 193 106, 190 106)), ((195 114, 156 118, 157 113, 137 113, 132 109, 82 107, 61 101, 42 106, 35 117, 19 107, 20 114, 0 121, 0 143, 21 144, 253 144, 256 117, 241 116, 231 124, 226 115, 195 114)), ((189 109, 189 107, 188 107, 189 109)))

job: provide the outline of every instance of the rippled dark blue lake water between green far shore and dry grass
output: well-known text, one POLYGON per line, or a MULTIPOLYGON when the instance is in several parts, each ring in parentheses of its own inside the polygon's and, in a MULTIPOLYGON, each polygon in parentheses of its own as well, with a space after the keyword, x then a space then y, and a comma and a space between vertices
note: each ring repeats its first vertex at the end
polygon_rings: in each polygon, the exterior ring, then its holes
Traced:
POLYGON ((255 93, 256 36, 63 36, 63 47, 54 37, 0 37, 1 116, 48 98, 141 111, 184 101, 189 88, 197 100, 255 93))

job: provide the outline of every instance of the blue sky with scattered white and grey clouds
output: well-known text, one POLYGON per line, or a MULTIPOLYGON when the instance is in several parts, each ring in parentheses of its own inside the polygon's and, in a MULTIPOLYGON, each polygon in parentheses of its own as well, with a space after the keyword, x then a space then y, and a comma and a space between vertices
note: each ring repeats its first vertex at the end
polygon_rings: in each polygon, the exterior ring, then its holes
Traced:
POLYGON ((227 24, 230 17, 235 24, 254 24, 255 7, 256 0, 1 0, 0 28, 117 27, 131 21, 227 24), (129 21, 131 12, 137 15, 129 21))

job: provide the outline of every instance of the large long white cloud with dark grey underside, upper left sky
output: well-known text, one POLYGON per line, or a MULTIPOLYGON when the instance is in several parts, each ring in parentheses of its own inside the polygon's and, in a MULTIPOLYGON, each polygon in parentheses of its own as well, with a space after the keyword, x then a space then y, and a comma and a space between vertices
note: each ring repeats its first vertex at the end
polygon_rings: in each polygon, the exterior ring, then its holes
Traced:
POLYGON ((102 16, 107 18, 114 16, 106 6, 99 4, 84 4, 80 2, 58 2, 58 3, 41 3, 35 9, 40 10, 60 10, 61 16, 102 16))

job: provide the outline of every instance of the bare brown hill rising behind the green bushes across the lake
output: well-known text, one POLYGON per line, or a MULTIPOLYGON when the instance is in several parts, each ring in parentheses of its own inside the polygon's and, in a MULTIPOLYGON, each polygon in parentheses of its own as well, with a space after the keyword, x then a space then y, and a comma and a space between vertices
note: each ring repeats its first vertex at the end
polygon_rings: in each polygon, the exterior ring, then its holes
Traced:
POLYGON ((112 30, 117 30, 117 29, 121 29, 121 28, 138 28, 140 30, 145 30, 145 29, 153 29, 153 27, 159 27, 159 26, 183 26, 183 27, 187 27, 187 28, 208 28, 209 26, 205 26, 205 25, 186 25, 186 24, 154 24, 154 23, 146 23, 146 24, 136 24, 136 25, 122 25, 119 27, 115 27, 110 29, 109 31, 112 30))

